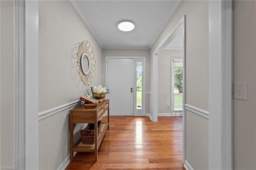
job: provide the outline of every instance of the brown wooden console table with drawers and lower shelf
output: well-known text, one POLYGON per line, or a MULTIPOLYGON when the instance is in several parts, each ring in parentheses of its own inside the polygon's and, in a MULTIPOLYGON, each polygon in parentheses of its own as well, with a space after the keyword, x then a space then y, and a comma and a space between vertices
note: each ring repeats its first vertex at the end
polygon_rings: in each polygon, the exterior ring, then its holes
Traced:
POLYGON ((97 107, 94 109, 84 109, 84 105, 80 105, 70 110, 69 115, 69 125, 70 125, 70 162, 73 161, 74 156, 73 152, 94 152, 95 160, 98 160, 98 148, 102 142, 102 139, 106 133, 106 130, 109 129, 109 99, 104 99, 102 102, 99 102, 97 107), (94 134, 97 134, 97 123, 102 118, 103 114, 108 110, 108 122, 101 123, 100 125, 100 134, 94 136, 94 144, 83 144, 82 139, 80 138, 74 144, 74 128, 76 123, 94 123, 95 129, 94 134), (95 142, 96 141, 96 142, 95 142))

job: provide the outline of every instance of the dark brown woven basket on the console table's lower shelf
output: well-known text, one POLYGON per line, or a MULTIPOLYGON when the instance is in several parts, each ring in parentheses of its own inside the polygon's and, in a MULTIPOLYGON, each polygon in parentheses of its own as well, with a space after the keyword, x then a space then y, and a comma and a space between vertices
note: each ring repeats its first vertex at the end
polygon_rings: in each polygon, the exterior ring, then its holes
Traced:
MULTIPOLYGON (((100 134, 100 122, 98 121, 98 135, 100 134)), ((83 144, 94 144, 94 123, 88 123, 84 130, 79 130, 83 144)))

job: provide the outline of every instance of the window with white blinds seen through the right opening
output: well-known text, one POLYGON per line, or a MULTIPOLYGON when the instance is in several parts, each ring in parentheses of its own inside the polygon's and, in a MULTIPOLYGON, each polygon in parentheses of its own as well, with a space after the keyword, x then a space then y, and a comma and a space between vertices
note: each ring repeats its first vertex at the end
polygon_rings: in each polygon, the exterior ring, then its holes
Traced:
POLYGON ((172 114, 183 108, 183 63, 182 58, 172 57, 172 114))

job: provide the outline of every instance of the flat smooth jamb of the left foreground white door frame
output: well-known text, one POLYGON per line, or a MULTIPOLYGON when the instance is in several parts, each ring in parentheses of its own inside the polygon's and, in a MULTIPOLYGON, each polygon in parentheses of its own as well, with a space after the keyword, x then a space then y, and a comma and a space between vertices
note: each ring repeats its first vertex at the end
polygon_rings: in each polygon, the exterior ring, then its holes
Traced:
POLYGON ((38 169, 38 0, 26 0, 25 12, 25 169, 38 169))

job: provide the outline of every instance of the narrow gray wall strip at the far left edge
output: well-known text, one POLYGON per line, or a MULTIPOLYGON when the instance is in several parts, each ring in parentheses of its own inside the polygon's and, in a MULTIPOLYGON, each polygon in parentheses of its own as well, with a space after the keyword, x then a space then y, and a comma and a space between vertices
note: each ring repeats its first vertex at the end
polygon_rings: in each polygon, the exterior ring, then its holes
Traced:
POLYGON ((14 162, 14 12, 13 1, 0 1, 0 166, 14 162))

